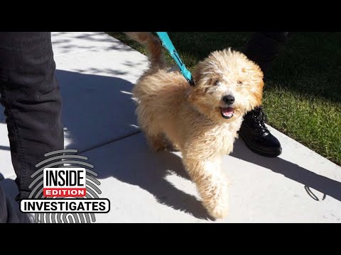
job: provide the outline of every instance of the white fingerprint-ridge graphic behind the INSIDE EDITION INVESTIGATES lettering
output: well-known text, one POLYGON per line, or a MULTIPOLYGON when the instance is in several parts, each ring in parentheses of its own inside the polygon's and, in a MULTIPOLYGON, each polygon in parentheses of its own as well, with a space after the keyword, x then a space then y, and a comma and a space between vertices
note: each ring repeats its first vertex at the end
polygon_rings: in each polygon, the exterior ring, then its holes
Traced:
MULTIPOLYGON (((33 188, 28 198, 45 198, 43 196, 43 170, 45 168, 84 168, 87 172, 86 175, 86 188, 87 195, 84 198, 99 198, 98 194, 102 191, 97 186, 101 183, 96 179, 97 173, 90 170, 94 166, 89 164, 87 157, 77 155, 77 149, 61 149, 55 152, 49 152, 45 154, 45 160, 36 164, 38 169, 34 174, 31 175, 33 179, 29 188, 33 188), (90 169, 89 169, 90 168, 90 169)), ((60 198, 60 197, 59 197, 60 198)), ((53 198, 45 198, 53 199, 53 198)), ((91 223, 96 222, 94 213, 36 213, 35 222, 38 223, 91 223)))

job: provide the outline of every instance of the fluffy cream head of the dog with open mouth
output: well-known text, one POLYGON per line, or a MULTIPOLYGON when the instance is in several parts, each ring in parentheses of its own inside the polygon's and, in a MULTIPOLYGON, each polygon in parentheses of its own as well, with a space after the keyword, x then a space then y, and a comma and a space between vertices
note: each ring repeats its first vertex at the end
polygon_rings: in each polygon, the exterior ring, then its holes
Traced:
POLYGON ((263 73, 240 52, 212 52, 193 72, 189 100, 215 121, 229 121, 261 105, 263 73))

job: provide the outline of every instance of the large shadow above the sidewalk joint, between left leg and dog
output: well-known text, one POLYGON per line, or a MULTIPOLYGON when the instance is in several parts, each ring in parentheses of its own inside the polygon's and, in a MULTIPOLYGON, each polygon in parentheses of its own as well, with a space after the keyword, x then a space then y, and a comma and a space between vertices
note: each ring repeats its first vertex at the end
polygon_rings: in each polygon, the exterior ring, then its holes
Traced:
POLYGON ((131 82, 117 77, 57 70, 67 148, 80 152, 139 131, 131 82))

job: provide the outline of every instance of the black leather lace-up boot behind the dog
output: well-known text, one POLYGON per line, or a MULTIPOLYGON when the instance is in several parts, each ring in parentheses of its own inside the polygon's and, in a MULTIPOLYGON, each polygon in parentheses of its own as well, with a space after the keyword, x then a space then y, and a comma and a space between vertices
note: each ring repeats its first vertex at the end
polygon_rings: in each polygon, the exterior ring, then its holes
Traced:
POLYGON ((265 157, 277 157, 282 153, 281 143, 266 128, 266 115, 261 107, 244 116, 239 137, 252 152, 265 157))

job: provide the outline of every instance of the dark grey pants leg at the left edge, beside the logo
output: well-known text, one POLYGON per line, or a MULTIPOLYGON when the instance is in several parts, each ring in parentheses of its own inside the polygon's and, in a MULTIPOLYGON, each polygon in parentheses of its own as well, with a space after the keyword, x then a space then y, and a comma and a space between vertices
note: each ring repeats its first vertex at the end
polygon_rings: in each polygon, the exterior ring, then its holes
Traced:
POLYGON ((23 199, 36 164, 45 153, 64 147, 50 32, 0 33, 0 93, 18 199, 23 199))

